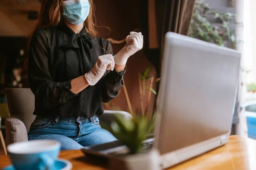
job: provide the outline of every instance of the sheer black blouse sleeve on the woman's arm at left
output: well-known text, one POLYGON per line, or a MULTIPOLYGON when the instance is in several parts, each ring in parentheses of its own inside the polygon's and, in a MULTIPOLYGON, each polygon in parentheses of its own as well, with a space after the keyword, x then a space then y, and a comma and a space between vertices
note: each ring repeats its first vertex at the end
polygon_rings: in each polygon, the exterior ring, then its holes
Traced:
POLYGON ((51 109, 78 94, 73 94, 70 91, 71 80, 67 82, 53 80, 50 74, 48 50, 49 46, 44 30, 36 30, 29 47, 29 87, 39 105, 51 109))

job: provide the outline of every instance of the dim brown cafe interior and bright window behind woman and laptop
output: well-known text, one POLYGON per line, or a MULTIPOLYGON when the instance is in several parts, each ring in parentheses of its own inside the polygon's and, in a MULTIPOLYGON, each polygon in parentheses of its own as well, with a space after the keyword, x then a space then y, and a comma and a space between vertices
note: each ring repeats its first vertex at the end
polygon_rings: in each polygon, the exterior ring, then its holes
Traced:
MULTIPOLYGON (((106 110, 150 116, 154 113, 163 37, 166 32, 173 31, 242 53, 232 134, 256 139, 256 132, 248 135, 248 109, 243 109, 244 103, 256 97, 256 88, 253 88, 256 87, 256 48, 253 48, 256 21, 252 17, 256 15, 252 10, 256 7, 255 0, 94 0, 94 3, 97 25, 101 26, 97 28, 99 37, 113 40, 114 54, 124 45, 115 42, 123 40, 130 31, 141 31, 144 35, 143 50, 128 60, 124 88, 116 99, 103 104, 106 110), (205 25, 210 25, 208 32, 205 25), (231 32, 227 32, 228 29, 231 32), (212 34, 223 41, 209 40, 207 36, 212 34)), ((23 61, 28 58, 27 42, 40 7, 40 0, 0 0, 0 127, 3 139, 4 120, 9 116, 5 88, 29 88, 23 61)), ((0 150, 0 154, 4 154, 0 150)))

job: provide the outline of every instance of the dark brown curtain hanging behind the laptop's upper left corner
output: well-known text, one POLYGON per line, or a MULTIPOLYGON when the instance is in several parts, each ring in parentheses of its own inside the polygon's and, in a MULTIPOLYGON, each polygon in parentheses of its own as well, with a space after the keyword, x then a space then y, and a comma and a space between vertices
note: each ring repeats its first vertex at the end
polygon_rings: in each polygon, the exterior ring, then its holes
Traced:
POLYGON ((141 0, 140 2, 142 9, 140 17, 145 41, 144 51, 160 75, 165 34, 169 31, 183 35, 188 34, 195 0, 141 0), (152 4, 150 3, 154 3, 154 8, 152 8, 152 4), (149 6, 150 8, 148 8, 149 6), (151 20, 152 18, 148 16, 152 15, 149 13, 154 13, 156 20, 151 20), (149 26, 156 26, 156 32, 150 32, 149 26), (157 48, 149 47, 149 36, 151 34, 157 34, 157 48))

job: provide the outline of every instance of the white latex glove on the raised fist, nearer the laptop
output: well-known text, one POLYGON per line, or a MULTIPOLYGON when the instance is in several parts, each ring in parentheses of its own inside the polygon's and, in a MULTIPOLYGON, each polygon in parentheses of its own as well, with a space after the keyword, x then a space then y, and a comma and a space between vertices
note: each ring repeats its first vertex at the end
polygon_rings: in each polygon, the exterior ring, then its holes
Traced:
POLYGON ((126 37, 126 45, 114 56, 115 64, 123 65, 127 59, 143 48, 143 35, 141 32, 131 32, 126 37))

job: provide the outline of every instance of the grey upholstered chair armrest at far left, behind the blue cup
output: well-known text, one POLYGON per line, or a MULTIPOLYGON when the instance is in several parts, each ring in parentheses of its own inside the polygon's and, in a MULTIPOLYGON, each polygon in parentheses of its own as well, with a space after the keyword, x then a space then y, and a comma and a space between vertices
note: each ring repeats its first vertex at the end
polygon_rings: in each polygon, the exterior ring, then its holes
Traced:
POLYGON ((7 117, 5 127, 7 145, 28 140, 26 127, 18 115, 7 117))

